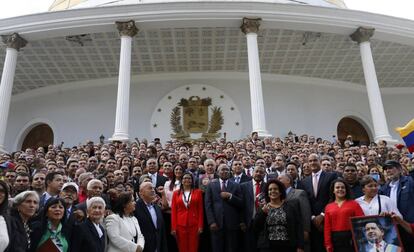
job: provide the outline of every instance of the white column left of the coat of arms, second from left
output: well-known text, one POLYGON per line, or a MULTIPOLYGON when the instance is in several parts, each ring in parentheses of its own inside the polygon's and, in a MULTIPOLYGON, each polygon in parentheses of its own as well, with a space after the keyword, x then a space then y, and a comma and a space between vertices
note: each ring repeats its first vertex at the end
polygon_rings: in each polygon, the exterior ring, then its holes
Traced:
POLYGON ((131 47, 132 37, 138 32, 134 21, 116 22, 121 36, 119 58, 118 96, 116 100, 115 130, 111 141, 128 141, 129 133, 129 96, 131 85, 131 47))

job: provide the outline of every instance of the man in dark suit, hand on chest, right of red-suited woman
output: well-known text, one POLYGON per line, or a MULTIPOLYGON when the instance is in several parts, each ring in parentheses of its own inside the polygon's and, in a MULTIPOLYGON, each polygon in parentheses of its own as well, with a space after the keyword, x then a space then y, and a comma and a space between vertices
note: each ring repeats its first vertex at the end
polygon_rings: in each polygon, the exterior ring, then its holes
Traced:
POLYGON ((218 167, 219 179, 207 186, 205 210, 211 230, 213 252, 237 251, 237 232, 240 229, 240 210, 243 208, 239 184, 229 181, 227 164, 218 167))

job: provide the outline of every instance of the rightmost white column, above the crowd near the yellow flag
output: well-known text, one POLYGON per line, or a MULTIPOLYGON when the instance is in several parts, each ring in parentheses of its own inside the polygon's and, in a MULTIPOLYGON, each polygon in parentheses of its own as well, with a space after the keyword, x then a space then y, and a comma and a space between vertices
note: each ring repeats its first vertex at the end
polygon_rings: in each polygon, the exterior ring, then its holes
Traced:
POLYGON ((395 140, 392 139, 388 130, 381 91, 378 84, 377 73, 375 71, 375 64, 372 58, 371 43, 369 40, 373 35, 374 29, 360 27, 351 35, 351 38, 359 43, 369 107, 374 126, 374 140, 375 142, 378 142, 379 140, 394 142, 395 140))

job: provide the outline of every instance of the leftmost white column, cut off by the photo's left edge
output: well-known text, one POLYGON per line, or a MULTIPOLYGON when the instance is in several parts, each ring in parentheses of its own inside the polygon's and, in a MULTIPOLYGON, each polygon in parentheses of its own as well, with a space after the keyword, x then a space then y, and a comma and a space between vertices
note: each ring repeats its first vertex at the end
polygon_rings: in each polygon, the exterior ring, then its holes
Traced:
POLYGON ((0 82, 0 153, 6 152, 4 141, 6 137, 7 119, 9 117, 14 74, 16 72, 17 55, 20 48, 27 44, 27 41, 21 38, 17 33, 3 36, 3 42, 7 45, 7 49, 0 82))

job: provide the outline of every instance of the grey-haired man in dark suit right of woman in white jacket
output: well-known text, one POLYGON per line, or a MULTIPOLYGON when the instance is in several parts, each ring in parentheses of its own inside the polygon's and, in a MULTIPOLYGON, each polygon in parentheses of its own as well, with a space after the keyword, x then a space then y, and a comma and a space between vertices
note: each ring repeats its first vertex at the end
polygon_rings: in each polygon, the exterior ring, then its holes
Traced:
POLYGON ((152 183, 143 182, 139 187, 140 199, 136 203, 135 217, 145 238, 143 252, 167 252, 167 237, 161 209, 153 204, 155 189, 152 183))

